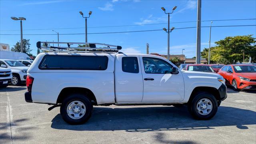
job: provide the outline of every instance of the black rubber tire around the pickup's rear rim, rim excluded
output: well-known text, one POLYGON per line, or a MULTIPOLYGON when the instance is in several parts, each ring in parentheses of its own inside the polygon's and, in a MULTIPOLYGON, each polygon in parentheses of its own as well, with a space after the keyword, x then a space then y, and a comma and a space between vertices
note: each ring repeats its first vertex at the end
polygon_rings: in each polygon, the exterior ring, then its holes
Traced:
POLYGON ((60 106, 60 114, 65 122, 68 124, 83 124, 86 122, 92 115, 92 103, 91 101, 83 94, 71 94, 65 98, 60 106), (68 115, 67 108, 68 105, 74 101, 80 101, 85 105, 85 114, 79 119, 73 119, 68 115))

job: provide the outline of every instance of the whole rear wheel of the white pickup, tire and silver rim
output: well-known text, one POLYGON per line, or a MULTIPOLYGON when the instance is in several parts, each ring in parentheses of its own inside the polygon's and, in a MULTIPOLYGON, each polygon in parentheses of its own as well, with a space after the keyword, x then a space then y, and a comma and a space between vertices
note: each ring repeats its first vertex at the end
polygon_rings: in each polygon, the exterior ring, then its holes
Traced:
POLYGON ((82 94, 71 94, 63 100, 60 114, 69 124, 83 124, 92 115, 92 103, 82 94))

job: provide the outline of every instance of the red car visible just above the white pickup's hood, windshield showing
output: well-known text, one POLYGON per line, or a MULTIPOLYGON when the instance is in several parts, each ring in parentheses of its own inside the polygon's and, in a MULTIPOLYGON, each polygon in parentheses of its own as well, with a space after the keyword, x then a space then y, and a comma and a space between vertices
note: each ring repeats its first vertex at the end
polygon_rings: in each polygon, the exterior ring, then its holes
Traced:
POLYGON ((184 70, 215 73, 215 71, 208 64, 188 64, 186 65, 184 70))

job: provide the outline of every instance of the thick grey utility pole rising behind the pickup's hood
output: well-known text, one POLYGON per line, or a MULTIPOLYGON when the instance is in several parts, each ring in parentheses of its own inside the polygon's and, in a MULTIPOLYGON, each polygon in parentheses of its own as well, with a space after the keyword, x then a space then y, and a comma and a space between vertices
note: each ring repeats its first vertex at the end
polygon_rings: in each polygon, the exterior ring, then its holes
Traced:
POLYGON ((200 64, 201 52, 201 0, 197 0, 197 28, 196 28, 196 64, 200 64))

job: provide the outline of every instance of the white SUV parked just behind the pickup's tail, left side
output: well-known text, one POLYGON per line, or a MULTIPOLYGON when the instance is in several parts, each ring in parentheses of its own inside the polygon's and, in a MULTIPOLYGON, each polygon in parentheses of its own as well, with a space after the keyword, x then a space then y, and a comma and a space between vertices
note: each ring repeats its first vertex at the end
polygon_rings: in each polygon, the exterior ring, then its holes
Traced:
POLYGON ((0 59, 0 64, 12 70, 12 85, 18 86, 20 83, 26 82, 28 66, 25 66, 17 60, 5 59, 0 59))

